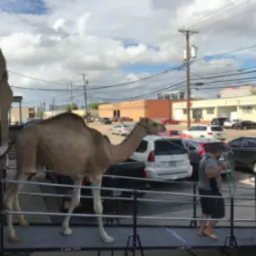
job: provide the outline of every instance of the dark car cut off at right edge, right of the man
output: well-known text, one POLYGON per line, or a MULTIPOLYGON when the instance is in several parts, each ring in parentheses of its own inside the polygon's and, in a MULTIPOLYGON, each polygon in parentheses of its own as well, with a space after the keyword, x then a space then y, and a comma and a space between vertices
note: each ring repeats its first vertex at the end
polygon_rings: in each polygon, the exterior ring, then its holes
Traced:
POLYGON ((256 172, 256 137, 237 137, 228 142, 234 153, 235 167, 256 172))

